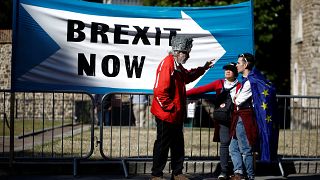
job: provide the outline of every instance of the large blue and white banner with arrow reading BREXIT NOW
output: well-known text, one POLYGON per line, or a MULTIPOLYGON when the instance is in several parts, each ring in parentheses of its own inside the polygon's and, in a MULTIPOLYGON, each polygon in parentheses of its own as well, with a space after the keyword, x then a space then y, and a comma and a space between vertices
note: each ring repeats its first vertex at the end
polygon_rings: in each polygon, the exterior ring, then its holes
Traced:
POLYGON ((222 78, 222 66, 253 53, 251 2, 146 7, 78 0, 15 0, 12 89, 151 92, 172 36, 194 37, 187 69, 215 65, 187 88, 222 78))

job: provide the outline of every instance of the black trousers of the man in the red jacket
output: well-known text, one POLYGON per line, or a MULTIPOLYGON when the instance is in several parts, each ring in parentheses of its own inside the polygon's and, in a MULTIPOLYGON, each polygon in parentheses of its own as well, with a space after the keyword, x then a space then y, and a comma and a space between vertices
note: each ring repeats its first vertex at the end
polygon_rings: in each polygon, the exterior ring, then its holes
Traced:
POLYGON ((153 147, 152 175, 163 176, 168 153, 171 153, 172 174, 182 174, 184 162, 183 124, 172 124, 156 118, 157 139, 153 147))

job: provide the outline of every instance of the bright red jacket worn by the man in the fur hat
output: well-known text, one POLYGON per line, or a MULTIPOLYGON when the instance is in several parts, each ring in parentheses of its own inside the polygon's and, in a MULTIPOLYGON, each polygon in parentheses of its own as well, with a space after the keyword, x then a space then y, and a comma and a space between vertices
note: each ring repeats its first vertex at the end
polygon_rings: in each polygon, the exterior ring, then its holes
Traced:
POLYGON ((153 88, 151 113, 162 121, 183 123, 186 116, 186 84, 206 71, 203 67, 186 70, 169 54, 158 66, 153 88))

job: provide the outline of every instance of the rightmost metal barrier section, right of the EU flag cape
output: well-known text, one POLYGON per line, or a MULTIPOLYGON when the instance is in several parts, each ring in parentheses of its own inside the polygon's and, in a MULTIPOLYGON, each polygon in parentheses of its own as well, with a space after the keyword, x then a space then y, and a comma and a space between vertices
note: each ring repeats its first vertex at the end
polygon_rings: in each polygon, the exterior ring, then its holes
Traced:
POLYGON ((282 160, 320 160, 320 97, 278 95, 282 160))

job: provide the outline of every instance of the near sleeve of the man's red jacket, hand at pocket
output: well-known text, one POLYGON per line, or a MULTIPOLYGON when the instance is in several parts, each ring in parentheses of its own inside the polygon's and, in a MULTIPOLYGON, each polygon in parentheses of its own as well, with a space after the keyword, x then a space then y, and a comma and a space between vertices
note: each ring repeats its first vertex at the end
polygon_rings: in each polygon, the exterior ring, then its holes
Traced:
POLYGON ((154 86, 154 98, 164 111, 171 111, 174 103, 170 94, 171 74, 174 71, 173 63, 169 58, 163 60, 157 70, 156 83, 154 86))

